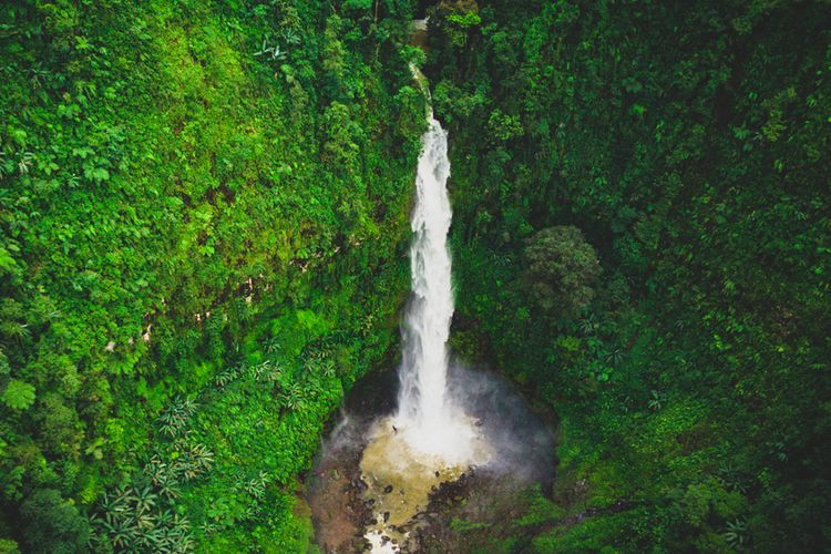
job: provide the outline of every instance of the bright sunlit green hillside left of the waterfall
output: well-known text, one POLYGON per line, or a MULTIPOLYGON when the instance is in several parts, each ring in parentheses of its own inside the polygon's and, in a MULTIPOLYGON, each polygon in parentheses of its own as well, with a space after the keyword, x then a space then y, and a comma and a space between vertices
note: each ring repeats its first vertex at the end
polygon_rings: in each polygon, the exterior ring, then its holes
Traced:
POLYGON ((0 10, 0 537, 308 541, 296 475, 408 286, 423 101, 370 3, 0 10))

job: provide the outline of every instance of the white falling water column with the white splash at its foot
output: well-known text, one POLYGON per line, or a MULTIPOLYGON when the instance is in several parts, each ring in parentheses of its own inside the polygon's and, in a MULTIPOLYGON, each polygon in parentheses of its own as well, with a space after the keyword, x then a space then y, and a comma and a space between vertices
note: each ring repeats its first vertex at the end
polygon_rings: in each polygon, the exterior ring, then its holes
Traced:
POLYGON ((404 440, 418 452, 448 464, 475 462, 478 433, 448 394, 448 337, 453 289, 448 232, 452 211, 448 134, 429 115, 422 135, 410 247, 412 293, 403 325, 399 409, 394 418, 404 440))

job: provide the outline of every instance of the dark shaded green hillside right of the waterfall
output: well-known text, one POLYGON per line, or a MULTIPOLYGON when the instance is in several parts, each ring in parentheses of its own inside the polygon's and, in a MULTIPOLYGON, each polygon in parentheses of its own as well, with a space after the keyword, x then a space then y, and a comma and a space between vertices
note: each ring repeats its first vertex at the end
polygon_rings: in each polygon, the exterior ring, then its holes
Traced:
POLYGON ((433 10, 456 342, 561 418, 553 503, 505 536, 831 544, 830 39, 825 2, 433 10))

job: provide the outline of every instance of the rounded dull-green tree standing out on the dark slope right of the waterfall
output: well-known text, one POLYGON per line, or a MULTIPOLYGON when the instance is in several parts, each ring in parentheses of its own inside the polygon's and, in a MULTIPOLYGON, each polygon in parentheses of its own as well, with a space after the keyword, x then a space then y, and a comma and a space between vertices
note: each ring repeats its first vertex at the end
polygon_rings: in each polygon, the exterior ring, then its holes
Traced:
POLYGON ((556 226, 537 232, 525 247, 525 278, 534 301, 545 311, 573 317, 592 298, 601 265, 577 227, 556 226))

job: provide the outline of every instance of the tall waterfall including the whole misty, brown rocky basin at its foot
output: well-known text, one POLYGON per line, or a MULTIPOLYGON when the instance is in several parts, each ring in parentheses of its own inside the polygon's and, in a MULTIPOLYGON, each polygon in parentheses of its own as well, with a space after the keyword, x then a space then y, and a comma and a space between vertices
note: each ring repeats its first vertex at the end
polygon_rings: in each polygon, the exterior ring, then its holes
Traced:
POLYGON ((482 517, 485 505, 501 503, 510 510, 522 491, 553 473, 553 438, 524 401, 494 373, 450 363, 448 135, 432 114, 428 121, 399 379, 358 383, 309 486, 317 540, 327 552, 441 545, 453 533, 453 517, 482 517))

